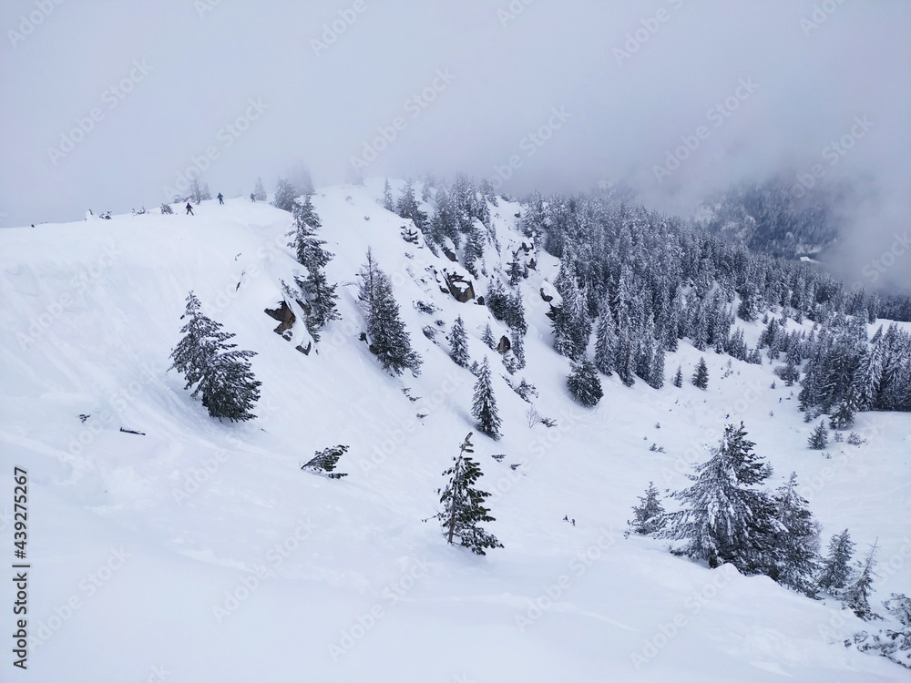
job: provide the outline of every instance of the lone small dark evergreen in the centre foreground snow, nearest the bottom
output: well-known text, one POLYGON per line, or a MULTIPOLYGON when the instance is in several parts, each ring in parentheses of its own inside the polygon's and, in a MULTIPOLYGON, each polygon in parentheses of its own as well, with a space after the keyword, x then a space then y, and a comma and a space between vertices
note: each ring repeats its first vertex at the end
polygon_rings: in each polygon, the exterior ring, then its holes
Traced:
POLYGON ((443 527, 446 543, 453 545, 457 538, 459 545, 476 555, 486 555, 485 548, 501 548, 503 544, 480 526, 482 522, 495 520, 484 505, 490 494, 475 488, 482 473, 480 466, 470 456, 474 452, 469 432, 459 446, 458 455, 453 458, 455 464, 443 473, 449 477, 449 483, 442 491, 437 489, 437 493, 441 494, 443 510, 436 517, 443 527))

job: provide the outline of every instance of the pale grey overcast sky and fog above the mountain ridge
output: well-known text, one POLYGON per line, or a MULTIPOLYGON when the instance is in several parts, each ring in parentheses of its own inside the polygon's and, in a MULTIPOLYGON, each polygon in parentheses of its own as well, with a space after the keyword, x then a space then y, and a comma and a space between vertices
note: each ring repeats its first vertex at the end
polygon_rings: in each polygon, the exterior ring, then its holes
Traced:
POLYGON ((678 211, 815 164, 873 178, 855 272, 911 216, 905 0, 2 0, 0 25, 5 227, 157 206, 193 168, 271 191, 300 160, 678 211))

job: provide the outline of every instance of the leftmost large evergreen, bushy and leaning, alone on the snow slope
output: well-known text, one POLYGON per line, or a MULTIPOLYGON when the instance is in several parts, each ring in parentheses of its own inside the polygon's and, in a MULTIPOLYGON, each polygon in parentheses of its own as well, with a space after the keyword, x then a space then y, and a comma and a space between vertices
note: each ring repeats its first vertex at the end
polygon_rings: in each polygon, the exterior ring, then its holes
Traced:
POLYGON ((227 417, 232 422, 256 417, 251 410, 260 400, 261 382, 257 382, 247 359, 256 355, 236 350, 227 343, 234 337, 221 331, 220 323, 200 311, 200 300, 192 291, 187 296, 187 309, 180 319, 189 320, 180 329, 185 336, 170 353, 173 364, 186 380, 185 389, 196 385, 190 394, 202 394, 202 404, 212 417, 227 417))

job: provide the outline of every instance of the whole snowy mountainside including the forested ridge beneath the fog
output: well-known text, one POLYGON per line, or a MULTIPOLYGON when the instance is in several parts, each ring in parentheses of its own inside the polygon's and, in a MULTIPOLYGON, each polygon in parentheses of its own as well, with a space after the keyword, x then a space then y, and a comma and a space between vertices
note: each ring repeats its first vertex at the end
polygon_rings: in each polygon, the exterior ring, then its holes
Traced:
POLYGON ((905 679, 911 325, 880 319, 901 302, 641 209, 428 185, 0 231, 0 439, 35 578, 27 668, 8 652, 0 678, 905 679), (190 291, 255 353, 255 418, 168 370, 190 291), (468 433, 462 490, 490 495, 450 545, 468 433), (728 488, 700 481, 715 465, 728 488), (691 489, 768 513, 823 599, 768 576, 748 525, 668 553, 670 515, 705 520, 669 495, 691 489), (874 544, 878 576, 855 573, 874 544))

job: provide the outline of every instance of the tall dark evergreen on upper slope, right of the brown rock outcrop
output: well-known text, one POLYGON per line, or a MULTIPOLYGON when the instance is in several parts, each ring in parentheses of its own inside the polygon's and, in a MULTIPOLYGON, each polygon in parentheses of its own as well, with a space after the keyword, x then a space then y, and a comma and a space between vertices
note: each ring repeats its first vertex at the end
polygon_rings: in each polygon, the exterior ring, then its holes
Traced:
POLYGON ((395 301, 392 281, 367 250, 367 262, 361 267, 360 299, 364 303, 367 334, 384 370, 401 374, 405 368, 419 374, 421 356, 411 348, 411 336, 404 329, 395 301))

